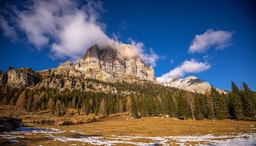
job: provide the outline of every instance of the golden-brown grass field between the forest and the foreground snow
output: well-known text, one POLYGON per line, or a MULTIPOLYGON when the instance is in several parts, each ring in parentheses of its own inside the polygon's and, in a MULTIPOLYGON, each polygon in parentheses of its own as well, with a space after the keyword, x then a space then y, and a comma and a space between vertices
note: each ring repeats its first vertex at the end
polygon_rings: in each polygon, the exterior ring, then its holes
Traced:
MULTIPOLYGON (((7 106, 0 108, 0 113, 12 113, 13 115, 16 114, 15 110, 7 106), (8 110, 9 109, 9 110, 8 110), (12 111, 12 112, 10 112, 12 111)), ((26 115, 23 112, 20 118, 23 120, 37 120, 43 119, 48 117, 49 118, 49 111, 42 110, 38 111, 38 113, 43 114, 30 114, 26 115)), ((90 115, 93 116, 93 115, 90 115)), ((85 118, 84 115, 78 115, 76 110, 69 109, 67 114, 64 117, 57 118, 52 116, 54 121, 63 121, 69 120, 71 118, 85 118)), ((233 121, 231 119, 225 119, 223 121, 211 121, 211 120, 178 120, 175 117, 169 118, 156 118, 156 117, 147 117, 147 118, 140 118, 134 119, 131 118, 128 113, 123 113, 123 115, 116 114, 111 115, 109 118, 99 119, 98 122, 93 123, 85 123, 85 124, 75 124, 75 125, 68 125, 68 126, 57 126, 57 125, 40 125, 40 124, 27 124, 28 127, 34 127, 39 129, 47 129, 47 128, 55 128, 64 130, 65 132, 61 133, 52 133, 52 135, 58 136, 65 136, 65 137, 72 137, 72 138, 81 138, 81 137, 90 137, 96 136, 100 137, 102 140, 108 138, 111 140, 111 135, 122 136, 122 137, 129 137, 129 136, 145 136, 145 137, 166 137, 166 136, 187 136, 187 135, 236 135, 237 133, 242 133, 245 130, 250 130, 252 133, 256 133, 256 129, 253 129, 251 125, 256 126, 255 121, 233 121), (76 132, 72 132, 72 131, 76 132), (71 132, 70 132, 71 131, 71 132)), ((59 140, 52 140, 49 135, 44 135, 41 133, 30 134, 26 135, 27 138, 16 138, 15 140, 19 140, 19 143, 12 143, 8 144, 8 140, 5 138, 0 138, 1 145, 44 145, 44 146, 59 146, 59 145, 71 145, 71 144, 85 144, 86 146, 90 146, 93 144, 84 143, 79 141, 68 141, 62 142, 59 140)), ((223 138, 225 140, 225 138, 223 138)), ((129 140, 128 140, 129 141, 129 140)), ((154 142, 155 140, 145 139, 145 138, 136 138, 132 140, 133 142, 143 142, 143 143, 150 143, 154 142)), ((203 142, 207 143, 207 142, 203 142)), ((168 143, 170 145, 179 145, 174 143, 168 143)), ((187 144, 196 144, 195 142, 187 142, 187 144)), ((116 145, 131 145, 125 143, 116 143, 116 145)), ((161 144, 159 144, 161 145, 161 144)))

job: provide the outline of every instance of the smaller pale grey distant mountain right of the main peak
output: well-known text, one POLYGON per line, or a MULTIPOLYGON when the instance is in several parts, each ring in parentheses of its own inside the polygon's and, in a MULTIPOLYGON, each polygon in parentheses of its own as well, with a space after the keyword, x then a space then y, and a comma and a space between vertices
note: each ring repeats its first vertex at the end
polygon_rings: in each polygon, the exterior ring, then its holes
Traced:
MULTIPOLYGON (((211 89, 211 85, 195 76, 188 76, 184 79, 173 78, 171 81, 163 83, 165 86, 177 87, 183 90, 189 90, 192 92, 205 93, 211 89)), ((217 89, 220 93, 227 93, 225 90, 217 89)))

